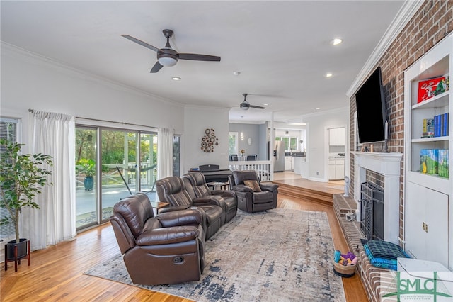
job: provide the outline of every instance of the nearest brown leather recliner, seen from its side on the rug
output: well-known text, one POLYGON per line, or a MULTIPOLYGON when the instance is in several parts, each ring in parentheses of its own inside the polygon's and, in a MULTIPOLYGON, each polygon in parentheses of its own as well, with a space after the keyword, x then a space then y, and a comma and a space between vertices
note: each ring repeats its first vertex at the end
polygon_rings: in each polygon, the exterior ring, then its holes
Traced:
POLYGON ((154 216, 146 194, 122 199, 110 216, 127 272, 134 284, 200 280, 205 266, 205 233, 197 210, 154 216))

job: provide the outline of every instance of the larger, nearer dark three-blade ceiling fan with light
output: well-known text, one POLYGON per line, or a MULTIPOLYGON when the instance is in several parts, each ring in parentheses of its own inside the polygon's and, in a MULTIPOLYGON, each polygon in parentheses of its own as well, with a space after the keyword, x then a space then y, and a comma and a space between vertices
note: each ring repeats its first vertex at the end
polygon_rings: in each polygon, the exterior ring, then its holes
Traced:
POLYGON ((162 33, 164 33, 165 38, 167 38, 167 43, 164 46, 164 48, 157 48, 154 47, 153 45, 149 45, 146 42, 143 42, 142 40, 139 40, 137 38, 134 38, 130 35, 121 35, 122 37, 131 40, 132 42, 135 42, 139 45, 142 45, 144 47, 149 48, 150 50, 154 50, 157 52, 157 62, 154 64, 154 66, 151 68, 151 73, 156 73, 161 70, 162 67, 171 67, 176 65, 176 62, 178 60, 195 60, 195 61, 220 61, 220 57, 216 57, 214 55, 197 55, 195 53, 179 53, 176 50, 173 50, 170 46, 170 38, 173 35, 173 30, 170 29, 164 29, 162 30, 162 33))

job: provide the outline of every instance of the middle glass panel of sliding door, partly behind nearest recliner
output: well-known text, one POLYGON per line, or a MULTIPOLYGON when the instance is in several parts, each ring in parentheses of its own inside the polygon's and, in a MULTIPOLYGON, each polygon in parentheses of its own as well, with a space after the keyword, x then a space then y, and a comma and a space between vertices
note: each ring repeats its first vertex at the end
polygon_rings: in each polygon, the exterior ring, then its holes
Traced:
POLYGON ((101 221, 105 221, 115 203, 138 191, 137 133, 101 130, 101 141, 101 221))

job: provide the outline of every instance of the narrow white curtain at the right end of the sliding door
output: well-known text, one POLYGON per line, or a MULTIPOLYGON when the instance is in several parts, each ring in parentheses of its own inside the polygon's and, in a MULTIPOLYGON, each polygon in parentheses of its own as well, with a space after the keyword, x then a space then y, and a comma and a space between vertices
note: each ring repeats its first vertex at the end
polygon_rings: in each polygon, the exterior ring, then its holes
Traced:
POLYGON ((173 130, 159 128, 157 133, 157 179, 173 175, 173 136, 173 130))

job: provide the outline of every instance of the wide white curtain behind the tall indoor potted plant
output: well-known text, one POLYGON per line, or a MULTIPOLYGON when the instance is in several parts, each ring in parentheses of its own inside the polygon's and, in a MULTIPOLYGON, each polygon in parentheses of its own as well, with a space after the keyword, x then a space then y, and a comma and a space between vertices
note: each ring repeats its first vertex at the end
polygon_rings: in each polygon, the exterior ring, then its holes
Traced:
POLYGON ((50 181, 35 197, 40 210, 24 208, 22 234, 32 250, 70 240, 76 235, 75 118, 59 113, 30 113, 30 153, 52 156, 50 181))

